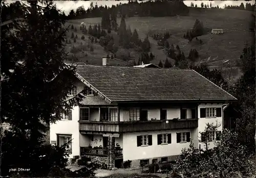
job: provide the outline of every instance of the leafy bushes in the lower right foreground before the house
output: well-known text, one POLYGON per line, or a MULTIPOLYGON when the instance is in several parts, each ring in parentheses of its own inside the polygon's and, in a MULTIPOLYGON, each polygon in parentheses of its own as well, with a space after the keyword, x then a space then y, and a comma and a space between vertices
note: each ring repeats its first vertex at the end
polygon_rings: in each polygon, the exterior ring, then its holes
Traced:
POLYGON ((184 176, 232 177, 234 173, 250 176, 254 164, 246 146, 239 143, 238 134, 223 130, 220 141, 212 149, 198 149, 191 142, 182 150, 177 168, 184 176))

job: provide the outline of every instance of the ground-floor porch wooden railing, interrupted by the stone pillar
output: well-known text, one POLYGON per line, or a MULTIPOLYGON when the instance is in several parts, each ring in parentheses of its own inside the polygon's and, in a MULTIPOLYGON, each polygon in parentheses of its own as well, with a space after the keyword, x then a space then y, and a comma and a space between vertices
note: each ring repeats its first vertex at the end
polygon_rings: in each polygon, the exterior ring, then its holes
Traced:
MULTIPOLYGON (((80 155, 90 155, 99 157, 108 157, 109 150, 102 148, 80 147, 80 155)), ((115 147, 115 158, 121 158, 123 156, 123 149, 115 147)))

